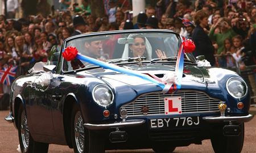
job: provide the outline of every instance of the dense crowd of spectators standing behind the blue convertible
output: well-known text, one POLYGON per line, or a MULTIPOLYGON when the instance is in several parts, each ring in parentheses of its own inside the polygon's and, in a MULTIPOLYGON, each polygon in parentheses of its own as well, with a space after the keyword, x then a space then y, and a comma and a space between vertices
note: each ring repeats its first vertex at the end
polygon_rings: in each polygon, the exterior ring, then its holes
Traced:
POLYGON ((52 46, 70 36, 141 28, 171 29, 192 39, 195 57, 204 55, 212 66, 243 70, 256 63, 254 0, 159 0, 147 6, 135 24, 131 1, 107 2, 102 18, 91 15, 87 0, 82 5, 60 1, 61 9, 39 11, 28 18, 0 15, 0 68, 18 66, 16 76, 23 75, 35 62, 46 62, 52 46))

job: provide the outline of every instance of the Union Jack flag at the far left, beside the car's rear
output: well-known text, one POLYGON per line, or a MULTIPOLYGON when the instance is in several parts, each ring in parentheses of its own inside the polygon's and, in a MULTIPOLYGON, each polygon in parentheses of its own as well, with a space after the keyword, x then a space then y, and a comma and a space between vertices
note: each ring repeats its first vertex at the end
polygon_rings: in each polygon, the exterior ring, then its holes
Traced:
POLYGON ((13 66, 13 65, 8 67, 3 67, 3 69, 0 70, 0 83, 10 86, 15 79, 16 70, 17 70, 17 66, 13 66))

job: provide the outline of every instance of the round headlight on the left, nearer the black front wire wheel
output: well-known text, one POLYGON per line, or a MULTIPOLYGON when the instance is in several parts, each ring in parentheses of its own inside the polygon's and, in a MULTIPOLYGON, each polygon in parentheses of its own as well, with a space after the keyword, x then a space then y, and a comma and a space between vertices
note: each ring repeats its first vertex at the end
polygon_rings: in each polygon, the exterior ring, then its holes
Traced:
POLYGON ((93 100, 100 106, 106 107, 113 103, 114 95, 108 86, 98 85, 93 88, 93 100))

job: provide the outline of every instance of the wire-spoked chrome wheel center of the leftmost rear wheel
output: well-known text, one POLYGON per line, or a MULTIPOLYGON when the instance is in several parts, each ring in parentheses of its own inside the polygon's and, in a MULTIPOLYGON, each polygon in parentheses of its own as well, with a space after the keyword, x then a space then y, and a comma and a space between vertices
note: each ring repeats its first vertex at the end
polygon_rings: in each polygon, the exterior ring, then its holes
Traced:
POLYGON ((27 116, 25 114, 25 111, 22 112, 21 116, 20 132, 24 149, 27 150, 28 144, 30 142, 30 130, 27 126, 27 116))

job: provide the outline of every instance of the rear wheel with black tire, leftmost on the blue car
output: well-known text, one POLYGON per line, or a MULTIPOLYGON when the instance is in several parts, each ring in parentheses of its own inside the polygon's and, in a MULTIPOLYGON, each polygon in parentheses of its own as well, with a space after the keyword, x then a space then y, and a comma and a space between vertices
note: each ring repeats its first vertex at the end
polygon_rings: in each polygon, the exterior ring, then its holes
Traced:
POLYGON ((49 147, 48 143, 36 142, 31 137, 31 134, 27 125, 27 115, 22 104, 20 104, 19 112, 18 112, 18 134, 19 134, 20 151, 22 153, 48 152, 48 147, 49 147))

